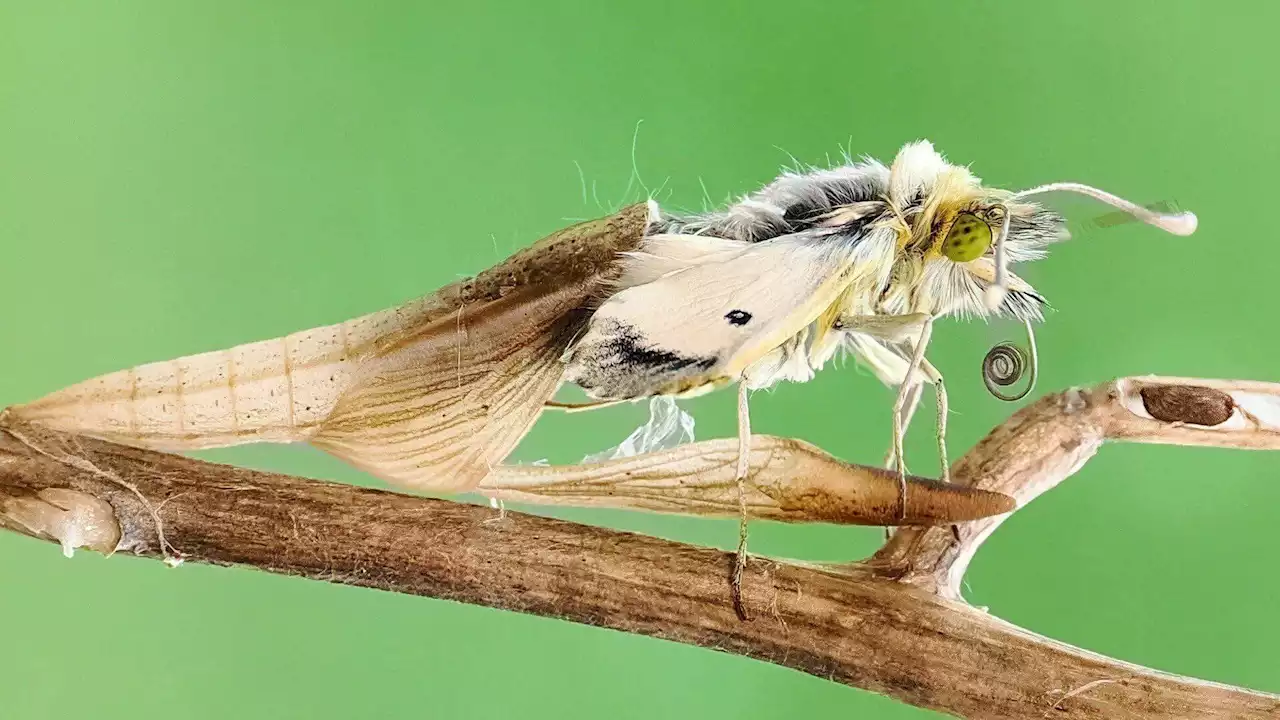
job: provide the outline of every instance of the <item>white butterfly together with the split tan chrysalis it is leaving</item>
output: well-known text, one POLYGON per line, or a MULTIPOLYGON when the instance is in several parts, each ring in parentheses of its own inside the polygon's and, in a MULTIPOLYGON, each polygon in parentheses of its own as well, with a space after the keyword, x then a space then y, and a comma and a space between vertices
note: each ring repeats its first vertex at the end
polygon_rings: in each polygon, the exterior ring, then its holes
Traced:
POLYGON ((1196 227, 1189 213, 1153 213, 1075 183, 988 188, 922 141, 891 165, 786 172, 722 211, 664 215, 650 201, 401 307, 141 365, 12 410, 168 451, 310 442, 417 489, 723 511, 672 480, 691 473, 707 487, 736 488, 737 606, 753 459, 768 468, 776 454, 815 456, 753 438, 749 392, 805 382, 842 350, 897 388, 888 462, 896 473, 867 474, 846 521, 950 524, 1010 509, 993 493, 909 478, 902 436, 922 387, 933 384, 946 477, 946 395, 925 359, 933 323, 1041 319, 1044 299, 1007 265, 1068 237, 1059 214, 1029 200, 1051 191, 1088 195, 1178 234, 1196 227), (576 409, 737 383, 737 445, 694 443, 598 466, 503 465, 545 406, 563 407, 552 397, 564 382, 593 398, 576 409), (909 491, 945 496, 950 510, 913 515, 909 491))

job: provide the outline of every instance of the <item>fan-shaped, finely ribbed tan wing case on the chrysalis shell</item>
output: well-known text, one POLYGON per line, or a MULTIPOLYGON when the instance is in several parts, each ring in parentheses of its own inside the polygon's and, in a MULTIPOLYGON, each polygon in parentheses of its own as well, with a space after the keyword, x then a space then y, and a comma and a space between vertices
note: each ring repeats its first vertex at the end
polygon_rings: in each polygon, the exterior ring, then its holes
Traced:
POLYGON ((588 295, 516 293, 416 329, 342 395, 311 443, 402 487, 477 486, 559 386, 588 295))

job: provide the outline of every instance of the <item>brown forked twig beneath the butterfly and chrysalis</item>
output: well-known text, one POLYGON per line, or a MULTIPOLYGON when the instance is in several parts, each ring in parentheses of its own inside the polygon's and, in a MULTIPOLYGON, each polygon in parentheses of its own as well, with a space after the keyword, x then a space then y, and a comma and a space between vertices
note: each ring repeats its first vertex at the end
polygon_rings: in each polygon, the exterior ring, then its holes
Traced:
MULTIPOLYGON (((1106 438, 1277 447, 1280 386, 1125 379, 1041 400, 954 471, 1020 503, 1106 438), (1193 423, 1193 424, 1188 424, 1193 423), (1194 424, 1198 423, 1198 424, 1194 424)), ((250 565, 662 637, 795 667, 963 717, 1275 717, 1280 697, 1076 650, 956 591, 1000 519, 902 529, 867 562, 755 559, 753 621, 732 556, 657 538, 285 475, 55 433, 0 416, 0 523, 64 546, 250 565)))

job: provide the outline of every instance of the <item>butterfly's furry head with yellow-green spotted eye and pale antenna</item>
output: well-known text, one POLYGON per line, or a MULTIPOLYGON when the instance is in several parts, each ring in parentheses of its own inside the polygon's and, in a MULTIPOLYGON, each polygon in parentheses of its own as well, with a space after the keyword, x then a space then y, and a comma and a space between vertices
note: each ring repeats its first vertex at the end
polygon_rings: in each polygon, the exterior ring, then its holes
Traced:
POLYGON ((1009 264, 1038 260, 1050 243, 1069 237, 1061 215, 1029 200, 1059 191, 1087 195, 1174 234, 1196 231, 1192 213, 1153 213, 1080 183, 1016 192, 984 187, 968 168, 947 163, 927 141, 897 154, 886 201, 904 256, 919 259, 919 279, 934 286, 925 292, 934 296, 936 305, 961 313, 1005 310, 1028 319, 1036 314, 1027 311, 1028 302, 1038 305, 1041 300, 1009 272, 1009 264))

